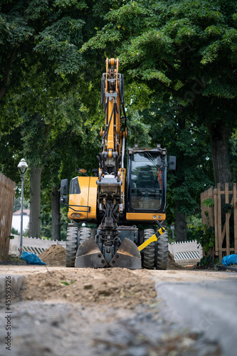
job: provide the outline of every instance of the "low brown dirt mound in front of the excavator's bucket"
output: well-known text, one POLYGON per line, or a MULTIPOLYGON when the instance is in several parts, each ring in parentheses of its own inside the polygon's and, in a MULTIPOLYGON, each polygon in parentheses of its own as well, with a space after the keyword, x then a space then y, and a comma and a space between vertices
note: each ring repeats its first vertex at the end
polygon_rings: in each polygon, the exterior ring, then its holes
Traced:
POLYGON ((146 271, 142 272, 138 275, 125 268, 65 268, 38 273, 25 278, 21 298, 134 308, 153 303, 156 297, 154 281, 146 277, 146 271))

